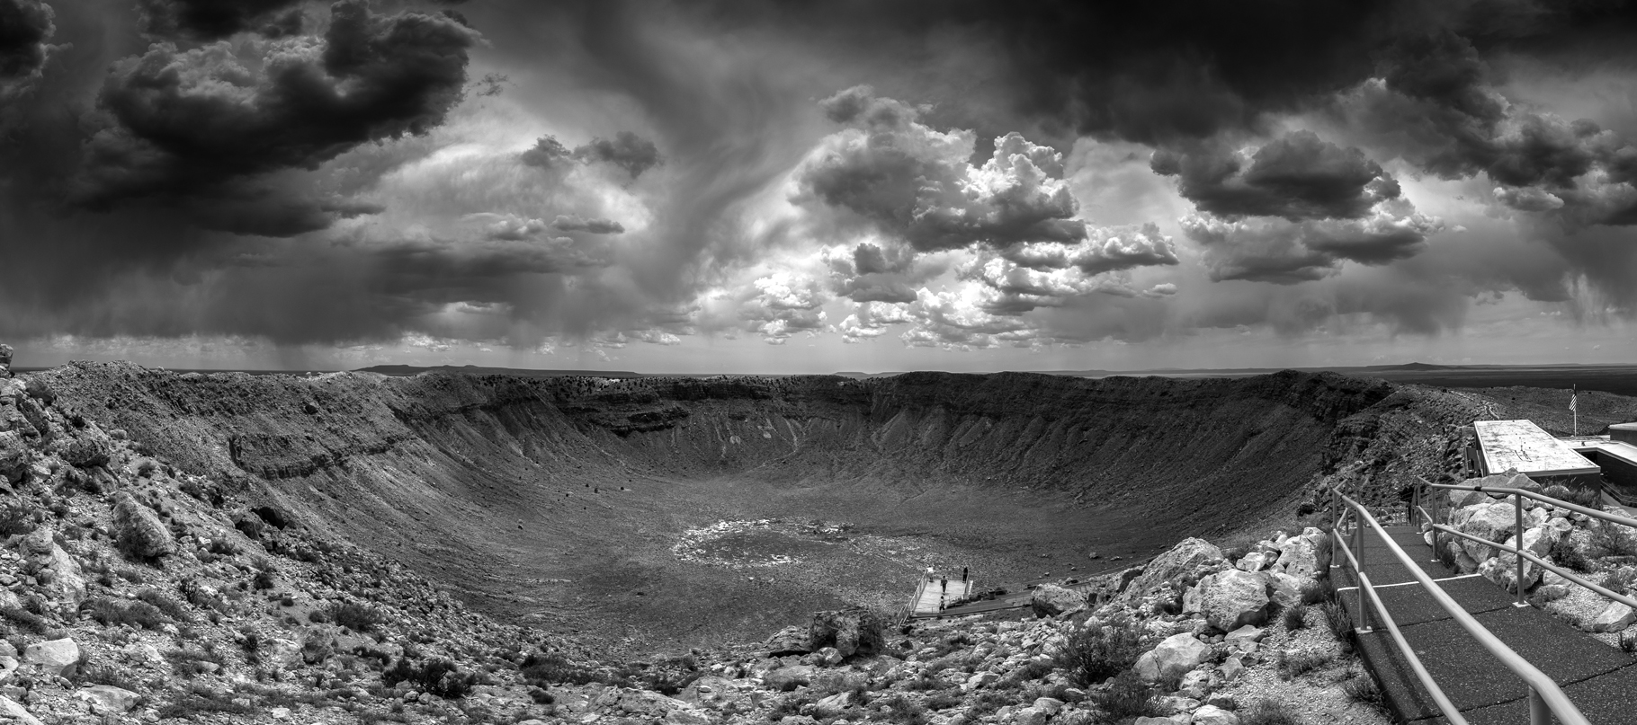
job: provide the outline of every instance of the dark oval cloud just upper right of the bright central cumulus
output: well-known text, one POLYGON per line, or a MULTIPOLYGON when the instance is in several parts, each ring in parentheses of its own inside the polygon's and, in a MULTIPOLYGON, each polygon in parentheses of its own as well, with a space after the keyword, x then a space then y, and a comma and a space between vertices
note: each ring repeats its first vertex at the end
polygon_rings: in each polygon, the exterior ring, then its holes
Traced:
POLYGON ((1380 164, 1313 131, 1282 136, 1249 159, 1220 144, 1193 152, 1162 149, 1152 169, 1180 177, 1184 196, 1221 216, 1352 219, 1400 195, 1398 182, 1380 164))

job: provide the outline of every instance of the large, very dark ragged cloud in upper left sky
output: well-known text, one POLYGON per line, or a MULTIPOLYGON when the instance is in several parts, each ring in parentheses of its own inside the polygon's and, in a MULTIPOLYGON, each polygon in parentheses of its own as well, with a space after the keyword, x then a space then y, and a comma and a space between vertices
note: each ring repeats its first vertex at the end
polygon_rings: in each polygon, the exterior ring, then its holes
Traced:
POLYGON ((103 128, 85 142, 75 198, 101 209, 144 196, 183 209, 260 198, 265 216, 290 216, 259 224, 265 231, 327 226, 336 214, 322 203, 259 177, 437 126, 460 100, 473 39, 439 15, 380 16, 345 0, 332 5, 321 46, 154 44, 110 70, 97 98, 103 128), (239 47, 257 57, 247 62, 239 47))

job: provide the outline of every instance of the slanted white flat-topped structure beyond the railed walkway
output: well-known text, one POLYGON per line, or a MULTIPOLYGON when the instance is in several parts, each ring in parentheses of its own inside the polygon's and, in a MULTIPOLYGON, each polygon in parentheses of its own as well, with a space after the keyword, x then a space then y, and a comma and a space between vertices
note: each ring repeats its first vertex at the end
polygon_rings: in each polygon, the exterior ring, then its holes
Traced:
MULTIPOLYGON (((1516 470, 1542 486, 1599 486, 1603 470, 1570 442, 1558 440, 1534 421, 1475 421, 1478 445, 1467 465, 1480 476, 1516 470)), ((1637 434, 1637 430, 1634 430, 1637 434)))

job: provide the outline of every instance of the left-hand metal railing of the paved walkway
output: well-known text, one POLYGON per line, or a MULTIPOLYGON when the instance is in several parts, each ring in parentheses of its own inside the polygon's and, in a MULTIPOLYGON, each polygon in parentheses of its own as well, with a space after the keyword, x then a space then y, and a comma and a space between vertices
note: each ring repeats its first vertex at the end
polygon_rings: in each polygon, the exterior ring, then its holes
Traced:
MULTIPOLYGON (((1359 548, 1359 555, 1354 555, 1354 552, 1347 548, 1347 542, 1339 529, 1341 519, 1337 517, 1331 519, 1334 522, 1333 525, 1336 527, 1331 529, 1331 532, 1334 535, 1334 547, 1347 555, 1347 563, 1352 565, 1354 573, 1359 579, 1360 622, 1369 624, 1369 610, 1364 607, 1364 597, 1369 596, 1370 604, 1377 610, 1375 612, 1377 617, 1382 620, 1382 625, 1387 627, 1387 632, 1391 637, 1393 646, 1396 646, 1400 655, 1405 656, 1405 661, 1409 664, 1409 669, 1414 673, 1421 686, 1426 687, 1427 694, 1432 696, 1432 702, 1437 705, 1442 715, 1450 722, 1450 725, 1467 725, 1467 718, 1460 714, 1460 710, 1455 709, 1455 704, 1450 702, 1450 699, 1444 694, 1442 687, 1439 687, 1437 682, 1432 681, 1432 674, 1427 673, 1427 669, 1421 664, 1421 658, 1416 656, 1414 648, 1409 646, 1408 640, 1405 640, 1405 635, 1403 632, 1400 632, 1398 624, 1393 622, 1391 614, 1387 610, 1387 607, 1382 604, 1380 596, 1375 592, 1375 586, 1370 584, 1369 574, 1364 573, 1364 561, 1360 556, 1364 555, 1362 543, 1364 543, 1365 524, 1369 524, 1373 534, 1382 542, 1387 543, 1387 550, 1391 552, 1393 556, 1398 558, 1401 565, 1405 565, 1405 570, 1408 570, 1409 574, 1421 583, 1421 586, 1432 597, 1432 601, 1437 602, 1439 607, 1444 607, 1444 610, 1449 612, 1449 615, 1455 620, 1455 624, 1460 625, 1460 628, 1467 630, 1467 633, 1472 635, 1472 638, 1477 640, 1478 645, 1488 650, 1490 655, 1493 655, 1496 660, 1501 661, 1501 664, 1506 666, 1506 669, 1511 669, 1513 674, 1519 676, 1529 686, 1529 725, 1552 725, 1554 715, 1562 725, 1591 725, 1591 722, 1586 720, 1586 715, 1583 715, 1580 709, 1575 707, 1575 704, 1568 699, 1568 696, 1563 694, 1563 691, 1557 686, 1557 682, 1552 681, 1552 678, 1547 678, 1545 673, 1542 673, 1534 664, 1529 664, 1527 660, 1513 651, 1513 648, 1506 646, 1506 643, 1501 642, 1499 637, 1495 637, 1495 633, 1490 632, 1486 627, 1483 627, 1472 614, 1467 612, 1465 607, 1455 602, 1455 599, 1450 597, 1449 592, 1445 592, 1444 588, 1441 588, 1437 581, 1432 579, 1432 576, 1423 571, 1421 566, 1418 566, 1416 561, 1411 560, 1408 553, 1405 553, 1403 547, 1400 547, 1398 542, 1395 542, 1391 537, 1387 535, 1387 530, 1382 529, 1382 524, 1377 522, 1373 516, 1370 516, 1370 512, 1364 507, 1364 504, 1347 498, 1346 494, 1341 493, 1339 488, 1331 488, 1331 496, 1333 496, 1331 509, 1352 519, 1352 538, 1354 538, 1354 547, 1359 548)), ((1339 565, 1331 563, 1331 568, 1336 566, 1339 565)), ((1370 633, 1373 630, 1369 625, 1365 625, 1355 632, 1370 633)))

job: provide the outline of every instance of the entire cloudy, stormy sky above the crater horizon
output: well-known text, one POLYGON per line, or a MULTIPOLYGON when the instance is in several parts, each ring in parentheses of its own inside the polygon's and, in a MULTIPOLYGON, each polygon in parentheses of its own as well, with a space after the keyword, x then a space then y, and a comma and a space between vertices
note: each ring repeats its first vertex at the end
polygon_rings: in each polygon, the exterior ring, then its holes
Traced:
POLYGON ((0 0, 16 365, 1637 360, 1614 0, 0 0))

